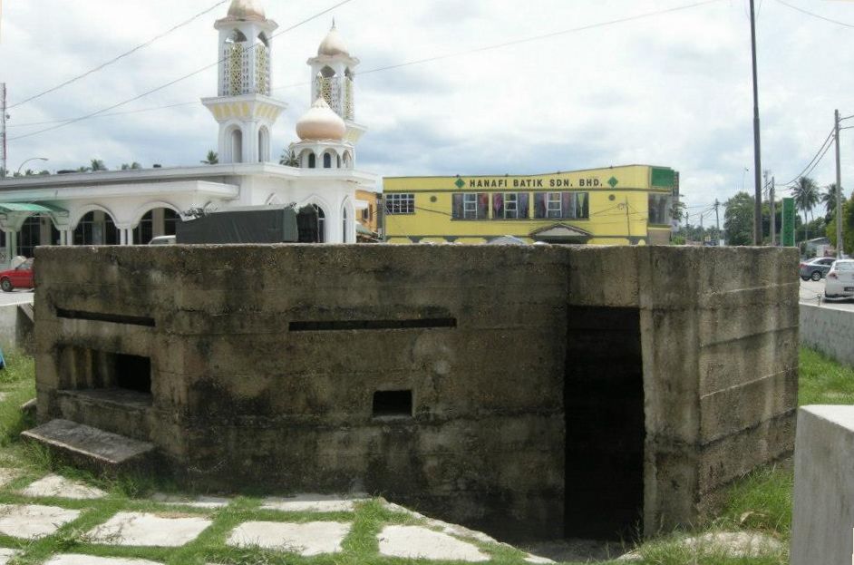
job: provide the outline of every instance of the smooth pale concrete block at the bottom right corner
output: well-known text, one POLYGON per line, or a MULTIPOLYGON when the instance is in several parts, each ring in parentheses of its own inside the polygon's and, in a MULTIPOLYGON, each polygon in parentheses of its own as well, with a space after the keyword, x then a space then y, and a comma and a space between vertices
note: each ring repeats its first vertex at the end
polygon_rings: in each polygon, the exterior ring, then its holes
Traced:
POLYGON ((851 562, 854 406, 798 412, 791 565, 851 562))

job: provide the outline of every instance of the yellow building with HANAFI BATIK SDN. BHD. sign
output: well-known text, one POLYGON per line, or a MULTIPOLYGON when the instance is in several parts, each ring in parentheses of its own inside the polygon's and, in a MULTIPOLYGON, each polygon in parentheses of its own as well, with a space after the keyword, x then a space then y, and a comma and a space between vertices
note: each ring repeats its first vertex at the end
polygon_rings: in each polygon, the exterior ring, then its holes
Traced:
POLYGON ((670 242, 679 173, 628 165, 533 176, 397 177, 383 182, 389 243, 670 242))

